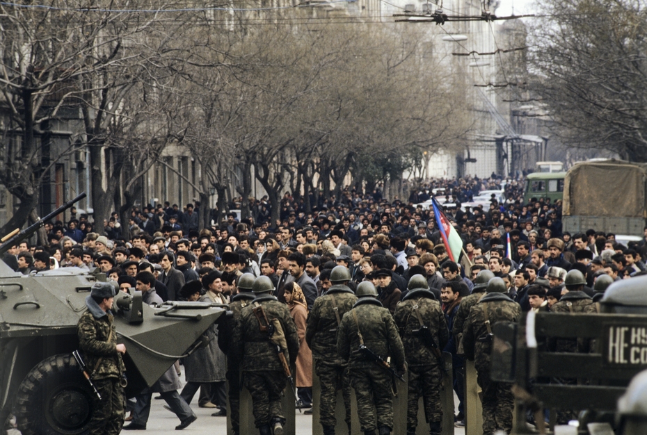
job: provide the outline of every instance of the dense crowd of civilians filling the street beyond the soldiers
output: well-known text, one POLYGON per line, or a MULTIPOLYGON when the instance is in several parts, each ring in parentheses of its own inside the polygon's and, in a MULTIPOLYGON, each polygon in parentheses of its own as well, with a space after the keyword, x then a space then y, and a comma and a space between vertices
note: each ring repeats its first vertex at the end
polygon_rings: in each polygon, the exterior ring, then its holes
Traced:
MULTIPOLYGON (((3 260, 23 274, 70 266, 104 272, 124 291, 154 292, 163 301, 193 298, 183 288, 196 281, 212 302, 227 303, 238 291, 239 277, 249 272, 269 277, 282 302, 294 305, 303 299, 305 309, 332 285, 335 265, 344 265, 351 289, 360 281, 372 281, 378 299, 392 313, 408 292, 409 279, 420 274, 442 303, 450 327, 461 299, 471 293, 483 270, 502 278, 506 294, 524 311, 550 310, 568 292, 565 281, 573 270, 581 272, 581 291, 590 297, 596 297, 594 288, 598 296, 604 290, 595 284, 602 274, 614 281, 645 273, 646 238, 625 246, 614 234, 594 229, 563 232, 561 201, 537 198, 525 203, 522 186, 522 180, 495 178, 431 180, 412 188, 408 202, 385 199, 380 189, 346 188, 339 200, 313 197, 311 204, 317 205, 312 211, 305 209, 303 197, 286 193, 276 222, 270 222, 269 204, 262 198, 250 202, 250 217, 227 213, 209 228, 200 227, 198 202, 182 208, 169 202, 133 208, 127 231, 116 213, 100 231, 87 216, 77 219, 72 209, 65 224, 47 222, 47 245, 22 241, 3 260), (486 189, 504 190, 504 201, 461 206, 486 189), (440 193, 445 213, 463 240, 457 261, 449 257, 433 208, 417 205, 434 192, 440 193)), ((232 202, 230 207, 239 205, 232 202)), ((300 355, 308 352, 307 345, 302 349, 300 355)), ((307 407, 312 381, 298 379, 299 397, 307 407)), ((222 388, 201 397, 200 406, 224 409, 218 399, 222 388)))

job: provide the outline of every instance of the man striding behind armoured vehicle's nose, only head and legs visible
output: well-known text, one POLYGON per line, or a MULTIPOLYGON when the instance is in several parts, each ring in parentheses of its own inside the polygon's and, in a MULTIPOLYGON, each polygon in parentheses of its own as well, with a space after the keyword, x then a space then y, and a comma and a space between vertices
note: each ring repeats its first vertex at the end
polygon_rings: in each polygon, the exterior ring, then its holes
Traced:
MULTIPOLYGON (((154 294, 155 277, 152 273, 139 272, 135 279, 137 283, 136 289, 141 291, 142 295, 146 295, 146 297, 142 297, 143 301, 149 305, 162 303, 161 297, 154 294)), ((137 403, 133 409, 133 419, 129 425, 123 427, 123 430, 146 429, 146 423, 150 415, 150 400, 153 393, 160 393, 162 399, 168 404, 168 409, 173 411, 179 418, 180 422, 175 427, 176 430, 182 430, 191 425, 198 416, 195 416, 186 400, 177 393, 179 388, 182 388, 182 383, 179 381, 177 372, 175 372, 175 366, 170 366, 152 387, 145 388, 144 391, 137 395, 137 403)))

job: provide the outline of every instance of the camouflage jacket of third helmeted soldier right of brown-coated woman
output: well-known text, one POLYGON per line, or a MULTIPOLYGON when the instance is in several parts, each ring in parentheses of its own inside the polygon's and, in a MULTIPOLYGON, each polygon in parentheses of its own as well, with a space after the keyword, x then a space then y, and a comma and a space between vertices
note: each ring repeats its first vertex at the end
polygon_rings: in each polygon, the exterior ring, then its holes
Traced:
POLYGON ((445 314, 442 313, 440 303, 434 299, 433 293, 429 290, 413 290, 407 293, 393 314, 393 320, 400 331, 409 367, 435 366, 439 362, 438 358, 433 354, 429 345, 413 332, 420 329, 420 320, 418 320, 414 309, 420 313, 423 325, 429 328, 433 341, 440 352, 449 340, 445 314))

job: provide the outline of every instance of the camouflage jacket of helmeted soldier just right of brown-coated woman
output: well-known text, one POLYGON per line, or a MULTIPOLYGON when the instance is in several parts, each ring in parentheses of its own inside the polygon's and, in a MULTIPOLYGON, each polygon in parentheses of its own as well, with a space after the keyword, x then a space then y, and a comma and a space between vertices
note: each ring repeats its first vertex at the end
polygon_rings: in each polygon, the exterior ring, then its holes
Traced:
POLYGON ((337 356, 337 314, 342 320, 344 314, 351 311, 353 304, 357 302, 357 296, 346 286, 332 286, 325 295, 314 300, 312 311, 307 316, 307 327, 305 329, 305 342, 312 350, 314 359, 325 359, 330 363, 342 364, 343 361, 337 356))

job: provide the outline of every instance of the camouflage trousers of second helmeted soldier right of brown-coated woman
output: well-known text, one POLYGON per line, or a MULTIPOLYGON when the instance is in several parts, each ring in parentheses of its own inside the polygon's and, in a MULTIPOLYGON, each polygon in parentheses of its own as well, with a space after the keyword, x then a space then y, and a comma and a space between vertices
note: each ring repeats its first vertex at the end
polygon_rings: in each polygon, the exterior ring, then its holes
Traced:
POLYGON ((351 386, 357 397, 357 413, 362 431, 372 431, 381 426, 393 429, 393 392, 390 373, 375 366, 351 368, 350 374, 351 386))

